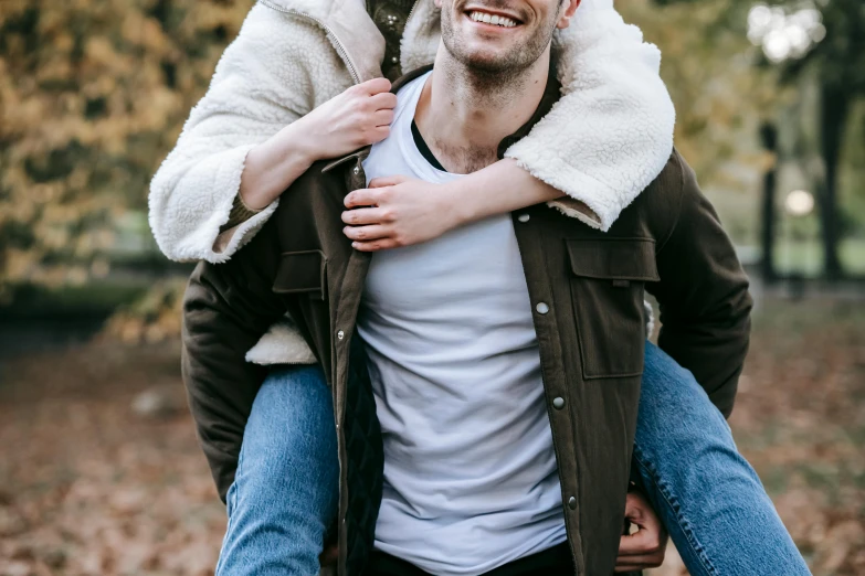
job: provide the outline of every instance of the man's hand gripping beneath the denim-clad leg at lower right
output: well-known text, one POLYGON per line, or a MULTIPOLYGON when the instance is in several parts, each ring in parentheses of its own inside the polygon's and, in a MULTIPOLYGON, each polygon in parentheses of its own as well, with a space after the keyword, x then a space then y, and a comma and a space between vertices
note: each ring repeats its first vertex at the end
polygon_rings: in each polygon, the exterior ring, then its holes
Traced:
POLYGON ((637 531, 622 536, 615 572, 636 572, 661 566, 667 547, 667 531, 640 492, 627 493, 625 520, 636 525, 637 531))

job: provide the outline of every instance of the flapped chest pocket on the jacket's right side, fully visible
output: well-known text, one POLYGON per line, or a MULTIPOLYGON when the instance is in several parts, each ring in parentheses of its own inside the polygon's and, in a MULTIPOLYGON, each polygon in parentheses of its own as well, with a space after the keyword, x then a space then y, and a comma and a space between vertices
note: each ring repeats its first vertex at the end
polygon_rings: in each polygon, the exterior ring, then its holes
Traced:
POLYGON ((657 281, 646 238, 568 239, 571 299, 583 378, 639 376, 645 350, 646 281, 657 281))

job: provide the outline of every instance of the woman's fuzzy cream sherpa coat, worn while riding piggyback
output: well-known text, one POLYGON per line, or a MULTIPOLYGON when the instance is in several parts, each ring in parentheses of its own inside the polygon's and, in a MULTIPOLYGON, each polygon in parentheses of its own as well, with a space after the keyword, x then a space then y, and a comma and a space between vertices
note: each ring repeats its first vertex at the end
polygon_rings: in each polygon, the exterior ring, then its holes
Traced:
MULTIPOLYGON (((439 10, 419 0, 405 24, 402 70, 433 62, 439 39, 439 10)), ((658 76, 661 54, 612 0, 583 0, 553 46, 562 98, 506 156, 593 214, 568 198, 552 206, 605 231, 673 148, 675 113, 658 76)), ((380 76, 383 54, 363 0, 259 0, 150 184, 160 249, 177 260, 229 259, 278 202, 220 234, 246 153, 354 83, 380 76)), ((315 362, 289 321, 272 327, 247 360, 315 362)))

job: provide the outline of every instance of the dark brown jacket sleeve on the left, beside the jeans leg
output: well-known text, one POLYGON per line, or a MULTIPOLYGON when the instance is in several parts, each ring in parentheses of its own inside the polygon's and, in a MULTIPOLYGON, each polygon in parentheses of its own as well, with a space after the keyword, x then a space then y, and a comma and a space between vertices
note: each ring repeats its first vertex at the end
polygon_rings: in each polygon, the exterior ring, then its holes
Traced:
POLYGON ((183 298, 183 383, 223 501, 234 481, 252 403, 265 377, 265 369, 244 356, 285 313, 272 290, 275 246, 274 225, 265 225, 238 258, 219 265, 199 263, 183 298))

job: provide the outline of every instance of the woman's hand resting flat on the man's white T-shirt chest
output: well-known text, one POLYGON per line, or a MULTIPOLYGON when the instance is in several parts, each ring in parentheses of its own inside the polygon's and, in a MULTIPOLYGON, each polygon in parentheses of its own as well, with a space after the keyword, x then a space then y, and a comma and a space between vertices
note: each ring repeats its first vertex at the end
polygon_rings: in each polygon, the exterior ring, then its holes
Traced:
POLYGON ((420 244, 462 223, 447 184, 404 175, 376 178, 368 189, 349 193, 345 204, 342 232, 361 252, 420 244))

